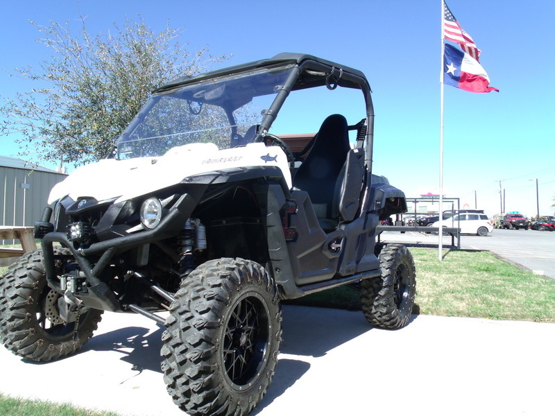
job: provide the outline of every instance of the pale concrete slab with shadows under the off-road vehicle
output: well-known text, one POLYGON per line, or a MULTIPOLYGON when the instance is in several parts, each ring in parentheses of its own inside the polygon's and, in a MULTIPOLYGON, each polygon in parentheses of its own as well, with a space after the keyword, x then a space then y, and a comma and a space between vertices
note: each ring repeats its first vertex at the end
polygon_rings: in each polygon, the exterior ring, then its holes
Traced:
MULTIPOLYGON (((275 379, 252 413, 552 415, 555 324, 413 315, 398 331, 361 312, 284 306, 275 379)), ((0 392, 121 415, 182 416, 160 372, 162 328, 105 313, 79 354, 25 363, 0 347, 0 392)))

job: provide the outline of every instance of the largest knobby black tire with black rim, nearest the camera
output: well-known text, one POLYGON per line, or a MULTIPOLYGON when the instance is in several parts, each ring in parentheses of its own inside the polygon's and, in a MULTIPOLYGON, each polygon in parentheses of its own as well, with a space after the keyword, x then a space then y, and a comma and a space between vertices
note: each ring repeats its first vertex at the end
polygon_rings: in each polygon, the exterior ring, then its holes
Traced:
POLYGON ((173 401, 191 416, 249 413, 273 378, 281 320, 278 289, 258 263, 226 258, 196 268, 162 336, 173 401))

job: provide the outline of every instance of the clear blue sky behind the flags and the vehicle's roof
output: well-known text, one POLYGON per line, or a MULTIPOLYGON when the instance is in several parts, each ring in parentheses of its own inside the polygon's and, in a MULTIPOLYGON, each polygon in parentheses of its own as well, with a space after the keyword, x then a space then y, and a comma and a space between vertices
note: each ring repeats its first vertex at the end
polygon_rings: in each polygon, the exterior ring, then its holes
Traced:
MULTIPOLYGON (((139 13, 155 31, 183 26, 189 50, 233 54, 220 66, 310 53, 360 69, 373 89, 374 173, 407 197, 438 191, 441 1, 3 1, 0 96, 32 85, 10 77, 38 67, 51 52, 35 42, 29 20, 86 16, 89 33, 106 33, 139 13)), ((553 214, 555 202, 555 1, 450 0, 448 6, 481 49, 481 64, 500 92, 472 94, 445 86, 444 193, 490 215, 553 214)), ((1 155, 17 156, 15 136, 1 155)))

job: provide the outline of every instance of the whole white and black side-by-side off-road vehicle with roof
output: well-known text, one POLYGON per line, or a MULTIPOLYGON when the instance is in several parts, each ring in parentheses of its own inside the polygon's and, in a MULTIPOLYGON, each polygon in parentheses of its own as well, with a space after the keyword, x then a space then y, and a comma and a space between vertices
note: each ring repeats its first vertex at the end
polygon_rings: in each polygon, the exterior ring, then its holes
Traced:
POLYGON ((403 327, 413 259, 375 234, 407 204, 372 174, 373 121, 364 74, 311 55, 160 87, 106 159, 52 189, 42 248, 1 279, 1 342, 52 361, 87 343, 103 311, 139 313, 165 327, 180 408, 245 415, 278 363, 280 300, 350 285, 371 324, 403 327), (327 94, 361 105, 335 114, 327 94), (316 134, 300 130, 322 110, 316 134))

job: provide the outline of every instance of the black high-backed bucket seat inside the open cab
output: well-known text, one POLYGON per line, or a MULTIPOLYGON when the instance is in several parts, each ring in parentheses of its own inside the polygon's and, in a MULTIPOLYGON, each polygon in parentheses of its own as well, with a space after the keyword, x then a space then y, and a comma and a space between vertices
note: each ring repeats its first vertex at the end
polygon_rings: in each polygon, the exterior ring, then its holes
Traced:
POLYGON ((347 120, 341 114, 328 116, 293 179, 293 188, 309 194, 318 223, 325 232, 336 229, 339 224, 343 165, 349 150, 347 120))

